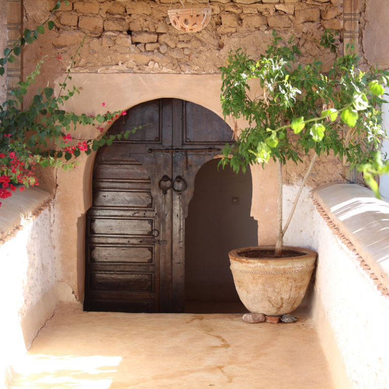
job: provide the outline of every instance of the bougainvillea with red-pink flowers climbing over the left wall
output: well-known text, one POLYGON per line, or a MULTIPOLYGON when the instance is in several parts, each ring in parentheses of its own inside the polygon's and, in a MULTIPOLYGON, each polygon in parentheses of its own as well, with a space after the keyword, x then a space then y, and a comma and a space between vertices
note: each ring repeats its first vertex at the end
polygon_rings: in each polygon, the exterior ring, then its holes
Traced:
MULTIPOLYGON (((67 4, 67 1, 64 3, 67 4)), ((57 2, 52 9, 51 15, 59 9, 60 2, 57 2)), ((13 48, 4 50, 4 58, 0 58, 0 75, 5 73, 4 66, 7 62, 14 62, 15 55, 20 55, 21 49, 25 45, 33 43, 38 34, 45 33, 45 25, 49 30, 53 29, 54 22, 50 17, 38 25, 35 30, 25 29, 23 36, 14 44, 13 48)), ((12 98, 0 105, 0 199, 12 196, 17 186, 20 190, 24 187, 38 185, 38 180, 34 174, 35 167, 58 167, 64 170, 73 169, 79 162, 77 157, 85 152, 87 155, 92 150, 97 150, 104 144, 111 145, 115 139, 128 138, 130 132, 135 132, 138 128, 123 132, 115 136, 105 136, 104 124, 112 124, 126 111, 107 110, 105 114, 97 115, 76 115, 74 112, 66 112, 63 104, 74 93, 80 93, 76 87, 68 88, 67 80, 71 80, 70 70, 76 63, 76 58, 80 56, 79 49, 83 47, 85 41, 80 43, 75 54, 71 57, 71 64, 67 69, 65 80, 59 84, 61 89, 58 96, 54 95, 54 90, 46 87, 38 89, 33 96, 28 107, 21 108, 23 97, 27 90, 32 88, 35 77, 40 74, 41 65, 44 59, 38 61, 35 70, 26 77, 25 81, 18 83, 18 88, 11 91, 12 98), (98 130, 97 137, 89 140, 74 139, 71 128, 75 130, 77 125, 91 125, 98 130), (48 142, 54 142, 54 149, 48 148, 48 142)), ((56 59, 61 59, 58 55, 56 59)), ((49 59, 50 61, 50 59, 49 59)), ((102 102, 106 107, 106 103, 102 102)), ((1 203, 0 203, 1 205, 1 203)))

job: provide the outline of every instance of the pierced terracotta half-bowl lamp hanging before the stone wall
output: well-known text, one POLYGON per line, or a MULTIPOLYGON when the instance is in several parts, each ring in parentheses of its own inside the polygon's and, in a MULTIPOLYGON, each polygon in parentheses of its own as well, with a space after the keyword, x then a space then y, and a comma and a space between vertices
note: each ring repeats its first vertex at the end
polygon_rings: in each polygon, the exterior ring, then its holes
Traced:
POLYGON ((198 32, 211 20, 211 8, 181 8, 169 10, 172 26, 185 32, 198 32))

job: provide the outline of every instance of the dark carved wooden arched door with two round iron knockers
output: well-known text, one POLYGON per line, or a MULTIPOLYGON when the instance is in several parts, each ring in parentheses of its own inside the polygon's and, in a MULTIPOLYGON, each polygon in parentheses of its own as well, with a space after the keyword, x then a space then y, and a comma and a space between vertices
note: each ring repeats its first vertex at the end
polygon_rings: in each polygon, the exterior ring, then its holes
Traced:
POLYGON ((195 175, 232 132, 200 105, 159 99, 129 109, 108 134, 144 125, 96 155, 85 310, 184 312, 184 222, 195 175))

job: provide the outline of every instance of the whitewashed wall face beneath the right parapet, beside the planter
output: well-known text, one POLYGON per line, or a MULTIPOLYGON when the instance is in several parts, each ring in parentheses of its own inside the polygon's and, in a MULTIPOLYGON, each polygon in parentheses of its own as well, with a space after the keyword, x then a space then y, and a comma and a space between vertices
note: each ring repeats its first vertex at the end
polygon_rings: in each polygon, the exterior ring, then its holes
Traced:
MULTIPOLYGON (((298 187, 284 186, 284 218, 298 187)), ((309 188, 285 236, 285 245, 318 252, 309 305, 337 389, 389 387, 389 300, 333 234, 313 205, 309 188)))

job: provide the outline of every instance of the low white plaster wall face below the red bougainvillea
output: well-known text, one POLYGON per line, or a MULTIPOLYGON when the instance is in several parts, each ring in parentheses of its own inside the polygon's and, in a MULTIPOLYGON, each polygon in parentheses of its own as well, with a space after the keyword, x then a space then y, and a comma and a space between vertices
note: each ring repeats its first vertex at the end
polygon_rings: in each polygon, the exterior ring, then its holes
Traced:
MULTIPOLYGON (((7 200, 2 207, 7 206, 7 200)), ((0 387, 57 304, 51 208, 0 246, 0 387)))

